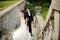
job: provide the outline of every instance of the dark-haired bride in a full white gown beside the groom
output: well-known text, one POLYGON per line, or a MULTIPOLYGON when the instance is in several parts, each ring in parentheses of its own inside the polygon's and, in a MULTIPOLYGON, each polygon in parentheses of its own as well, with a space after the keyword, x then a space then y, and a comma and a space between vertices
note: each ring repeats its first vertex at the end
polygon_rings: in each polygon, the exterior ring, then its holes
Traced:
MULTIPOLYGON (((20 17, 20 16, 19 16, 20 17)), ((32 40, 31 34, 29 33, 28 28, 28 17, 24 18, 24 13, 22 13, 21 19, 21 25, 20 27, 14 32, 13 34, 13 40, 32 40)))

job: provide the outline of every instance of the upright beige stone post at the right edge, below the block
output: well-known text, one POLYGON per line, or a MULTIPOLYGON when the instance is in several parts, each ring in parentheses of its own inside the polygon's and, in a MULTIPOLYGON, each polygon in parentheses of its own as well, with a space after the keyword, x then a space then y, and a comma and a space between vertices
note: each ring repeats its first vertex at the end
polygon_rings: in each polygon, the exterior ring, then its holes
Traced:
POLYGON ((54 40, 58 40, 59 38, 59 28, 60 28, 60 13, 58 11, 54 11, 54 40))

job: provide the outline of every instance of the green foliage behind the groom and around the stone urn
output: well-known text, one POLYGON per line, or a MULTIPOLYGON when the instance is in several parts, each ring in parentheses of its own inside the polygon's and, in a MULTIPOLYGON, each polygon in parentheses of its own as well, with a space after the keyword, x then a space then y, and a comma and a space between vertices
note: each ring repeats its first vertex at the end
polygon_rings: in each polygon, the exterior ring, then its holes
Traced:
POLYGON ((48 9, 49 9, 49 6, 50 4, 49 3, 31 3, 31 4, 26 4, 27 7, 30 8, 31 12, 33 13, 33 15, 35 16, 36 15, 36 12, 35 12, 35 6, 41 6, 42 9, 41 9, 41 15, 43 17, 43 19, 45 20, 46 19, 46 16, 47 16, 47 13, 48 13, 48 9))

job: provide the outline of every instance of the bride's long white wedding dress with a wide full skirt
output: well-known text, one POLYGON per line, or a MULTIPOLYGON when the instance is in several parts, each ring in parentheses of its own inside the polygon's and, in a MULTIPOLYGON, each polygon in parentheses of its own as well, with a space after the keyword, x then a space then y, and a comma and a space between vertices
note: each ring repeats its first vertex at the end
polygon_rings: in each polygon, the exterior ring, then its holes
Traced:
POLYGON ((26 30, 24 19, 21 19, 21 26, 14 32, 13 40, 32 40, 31 34, 26 30))

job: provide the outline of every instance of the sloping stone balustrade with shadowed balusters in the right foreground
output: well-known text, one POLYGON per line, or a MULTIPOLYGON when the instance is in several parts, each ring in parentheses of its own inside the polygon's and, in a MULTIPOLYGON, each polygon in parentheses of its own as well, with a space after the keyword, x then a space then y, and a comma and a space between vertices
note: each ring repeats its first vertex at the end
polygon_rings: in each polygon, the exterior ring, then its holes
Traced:
POLYGON ((54 32, 54 13, 52 5, 49 8, 46 21, 44 22, 39 34, 39 40, 52 40, 54 32))

